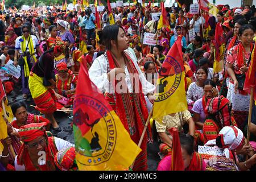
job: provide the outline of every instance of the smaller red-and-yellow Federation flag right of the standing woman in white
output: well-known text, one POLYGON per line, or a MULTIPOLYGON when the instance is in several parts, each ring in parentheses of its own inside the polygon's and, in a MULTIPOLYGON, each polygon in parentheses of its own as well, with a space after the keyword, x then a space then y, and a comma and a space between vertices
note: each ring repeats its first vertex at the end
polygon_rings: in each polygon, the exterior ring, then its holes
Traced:
POLYGON ((153 119, 162 121, 165 115, 188 109, 184 78, 181 37, 178 36, 159 70, 153 119))

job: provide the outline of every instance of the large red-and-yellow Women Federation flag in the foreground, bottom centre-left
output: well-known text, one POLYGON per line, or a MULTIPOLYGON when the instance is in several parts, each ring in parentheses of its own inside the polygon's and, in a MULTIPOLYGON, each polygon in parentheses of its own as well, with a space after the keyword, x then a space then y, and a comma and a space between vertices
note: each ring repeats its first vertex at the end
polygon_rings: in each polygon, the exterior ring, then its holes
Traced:
POLYGON ((80 64, 73 106, 79 170, 128 169, 142 150, 133 142, 97 86, 90 81, 85 60, 80 64))

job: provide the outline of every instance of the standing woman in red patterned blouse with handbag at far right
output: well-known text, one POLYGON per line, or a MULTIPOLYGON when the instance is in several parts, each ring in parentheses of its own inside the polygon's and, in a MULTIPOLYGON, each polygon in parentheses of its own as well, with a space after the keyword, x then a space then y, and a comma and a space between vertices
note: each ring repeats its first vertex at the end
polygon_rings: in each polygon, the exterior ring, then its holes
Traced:
POLYGON ((250 53, 253 50, 253 26, 250 24, 241 26, 238 36, 241 42, 232 47, 226 57, 226 67, 231 77, 227 98, 232 103, 234 118, 238 127, 241 128, 249 112, 250 95, 243 91, 243 78, 248 71, 250 53))

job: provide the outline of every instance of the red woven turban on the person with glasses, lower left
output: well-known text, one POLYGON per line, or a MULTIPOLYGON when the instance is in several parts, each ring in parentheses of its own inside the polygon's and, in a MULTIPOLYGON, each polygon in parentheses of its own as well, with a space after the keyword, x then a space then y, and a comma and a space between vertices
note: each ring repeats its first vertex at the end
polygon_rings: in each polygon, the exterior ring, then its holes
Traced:
POLYGON ((20 139, 23 142, 30 142, 40 136, 46 135, 47 122, 31 123, 24 125, 19 129, 20 139))

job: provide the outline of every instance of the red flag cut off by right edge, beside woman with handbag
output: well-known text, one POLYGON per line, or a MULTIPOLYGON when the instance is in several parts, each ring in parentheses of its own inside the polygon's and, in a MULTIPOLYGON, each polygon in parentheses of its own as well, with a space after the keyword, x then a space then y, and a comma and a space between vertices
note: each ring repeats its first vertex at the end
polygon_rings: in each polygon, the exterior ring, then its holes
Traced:
POLYGON ((250 66, 249 69, 246 73, 246 78, 245 78, 245 85, 243 86, 243 90, 245 90, 247 93, 250 93, 250 88, 254 89, 254 93, 253 93, 253 100, 256 101, 256 84, 255 84, 255 77, 256 77, 256 49, 255 49, 255 45, 253 48, 253 52, 251 52, 251 62, 250 62, 250 66))

